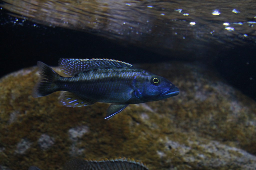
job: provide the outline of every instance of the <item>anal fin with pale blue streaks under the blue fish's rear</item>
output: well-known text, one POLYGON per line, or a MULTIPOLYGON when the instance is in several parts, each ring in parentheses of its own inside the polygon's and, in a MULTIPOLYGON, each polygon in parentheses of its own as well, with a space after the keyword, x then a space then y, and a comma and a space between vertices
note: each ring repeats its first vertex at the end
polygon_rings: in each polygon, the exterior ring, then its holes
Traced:
POLYGON ((66 91, 59 96, 59 102, 66 107, 81 107, 92 105, 97 101, 86 99, 75 93, 66 91))

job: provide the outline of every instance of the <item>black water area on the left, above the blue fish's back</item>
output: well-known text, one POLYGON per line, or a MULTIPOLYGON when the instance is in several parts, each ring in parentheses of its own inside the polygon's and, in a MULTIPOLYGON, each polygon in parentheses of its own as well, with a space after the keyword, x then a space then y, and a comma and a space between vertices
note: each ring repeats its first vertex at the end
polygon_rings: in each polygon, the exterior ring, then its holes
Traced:
MULTIPOLYGON (((155 62, 156 56, 159 56, 141 48, 120 46, 102 37, 63 28, 36 28, 33 23, 27 26, 9 23, 0 27, 3 61, 1 77, 34 66, 38 60, 57 66, 59 58, 111 58, 129 63, 145 63, 155 62)), ((157 58, 161 61, 169 59, 166 56, 157 58)))

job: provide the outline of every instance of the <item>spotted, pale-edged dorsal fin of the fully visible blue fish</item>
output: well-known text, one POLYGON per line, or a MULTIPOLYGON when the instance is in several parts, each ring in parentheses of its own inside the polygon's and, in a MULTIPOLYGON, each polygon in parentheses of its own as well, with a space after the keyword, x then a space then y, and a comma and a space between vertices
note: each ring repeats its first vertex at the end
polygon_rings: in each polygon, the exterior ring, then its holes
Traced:
POLYGON ((104 67, 132 67, 131 64, 114 59, 79 59, 79 58, 60 58, 59 59, 60 70, 66 76, 74 76, 80 72, 93 70, 95 68, 104 67))

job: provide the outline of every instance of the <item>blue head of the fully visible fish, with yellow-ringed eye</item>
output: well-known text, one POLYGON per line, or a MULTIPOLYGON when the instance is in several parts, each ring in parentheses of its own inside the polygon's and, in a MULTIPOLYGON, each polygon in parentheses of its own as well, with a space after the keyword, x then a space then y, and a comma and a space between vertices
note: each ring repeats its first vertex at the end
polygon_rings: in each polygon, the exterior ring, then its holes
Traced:
POLYGON ((179 94, 179 89, 172 82, 154 74, 138 77, 134 87, 135 96, 144 102, 162 100, 179 94))

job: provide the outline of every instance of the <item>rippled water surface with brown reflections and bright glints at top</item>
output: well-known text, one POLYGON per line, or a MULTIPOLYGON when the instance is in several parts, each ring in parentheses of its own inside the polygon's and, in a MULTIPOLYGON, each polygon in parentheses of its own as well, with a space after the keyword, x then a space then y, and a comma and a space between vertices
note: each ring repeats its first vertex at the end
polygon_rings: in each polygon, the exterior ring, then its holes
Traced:
POLYGON ((169 57, 217 57, 214 51, 220 44, 255 46, 256 40, 255 7, 250 0, 2 2, 1 7, 18 17, 14 23, 20 25, 25 19, 85 31, 169 57))

